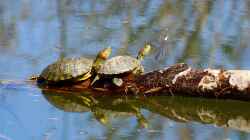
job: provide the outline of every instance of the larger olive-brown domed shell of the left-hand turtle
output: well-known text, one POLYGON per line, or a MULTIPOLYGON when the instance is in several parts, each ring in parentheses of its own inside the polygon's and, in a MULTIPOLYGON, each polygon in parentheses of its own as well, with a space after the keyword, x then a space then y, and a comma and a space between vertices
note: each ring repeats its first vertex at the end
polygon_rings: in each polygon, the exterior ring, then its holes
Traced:
POLYGON ((48 81, 58 82, 70 80, 91 71, 93 60, 79 58, 64 58, 48 65, 40 77, 48 81))

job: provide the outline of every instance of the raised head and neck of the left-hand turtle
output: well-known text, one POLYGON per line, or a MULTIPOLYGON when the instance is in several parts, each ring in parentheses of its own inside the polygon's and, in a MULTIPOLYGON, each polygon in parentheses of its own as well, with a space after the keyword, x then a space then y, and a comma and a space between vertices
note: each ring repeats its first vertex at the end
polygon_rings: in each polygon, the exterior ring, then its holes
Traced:
POLYGON ((111 55, 111 52, 112 52, 112 48, 107 47, 107 48, 101 50, 97 54, 96 59, 95 59, 94 64, 93 64, 95 71, 98 71, 98 69, 105 62, 105 60, 107 60, 109 58, 109 56, 111 55))

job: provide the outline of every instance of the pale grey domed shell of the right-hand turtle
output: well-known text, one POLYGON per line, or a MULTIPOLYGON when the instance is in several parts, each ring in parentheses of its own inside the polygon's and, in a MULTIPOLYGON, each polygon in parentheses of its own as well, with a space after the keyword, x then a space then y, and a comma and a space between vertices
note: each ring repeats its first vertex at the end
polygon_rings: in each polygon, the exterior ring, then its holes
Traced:
POLYGON ((139 67, 140 61, 131 56, 115 56, 107 60, 99 69, 99 74, 122 74, 139 67))

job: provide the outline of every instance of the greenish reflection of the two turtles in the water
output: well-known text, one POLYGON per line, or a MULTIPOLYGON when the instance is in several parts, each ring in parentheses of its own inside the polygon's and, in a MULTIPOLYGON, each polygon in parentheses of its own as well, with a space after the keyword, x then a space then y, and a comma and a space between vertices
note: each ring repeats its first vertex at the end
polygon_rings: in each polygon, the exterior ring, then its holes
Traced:
POLYGON ((148 126, 140 107, 128 102, 127 98, 96 98, 90 94, 63 94, 49 90, 43 90, 42 92, 48 102, 56 108, 65 112, 92 112, 95 119, 104 125, 110 121, 110 118, 116 116, 135 116, 141 128, 148 126))

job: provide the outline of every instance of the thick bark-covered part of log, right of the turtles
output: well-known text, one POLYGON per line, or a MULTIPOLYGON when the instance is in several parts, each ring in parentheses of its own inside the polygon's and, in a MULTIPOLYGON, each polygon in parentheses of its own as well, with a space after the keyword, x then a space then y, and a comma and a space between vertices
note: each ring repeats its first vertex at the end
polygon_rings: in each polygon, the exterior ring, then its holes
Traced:
MULTIPOLYGON (((133 93, 250 99, 250 71, 194 69, 176 64, 126 85, 133 93)), ((126 87, 126 88, 127 88, 126 87)))

